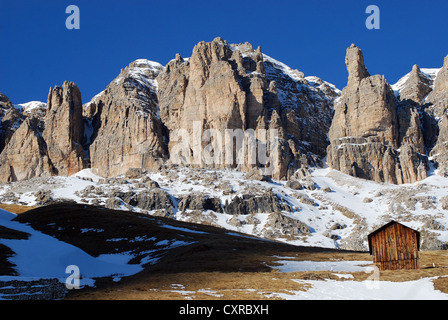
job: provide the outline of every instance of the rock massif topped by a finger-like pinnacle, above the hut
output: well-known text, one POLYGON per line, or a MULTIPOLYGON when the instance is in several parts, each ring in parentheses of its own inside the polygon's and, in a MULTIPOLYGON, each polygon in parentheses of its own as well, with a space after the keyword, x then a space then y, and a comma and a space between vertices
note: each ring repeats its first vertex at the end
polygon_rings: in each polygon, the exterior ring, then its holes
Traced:
POLYGON ((426 178, 428 163, 418 110, 397 103, 384 76, 369 75, 355 45, 347 49, 346 65, 349 80, 335 105, 329 131, 329 166, 386 183, 426 178))

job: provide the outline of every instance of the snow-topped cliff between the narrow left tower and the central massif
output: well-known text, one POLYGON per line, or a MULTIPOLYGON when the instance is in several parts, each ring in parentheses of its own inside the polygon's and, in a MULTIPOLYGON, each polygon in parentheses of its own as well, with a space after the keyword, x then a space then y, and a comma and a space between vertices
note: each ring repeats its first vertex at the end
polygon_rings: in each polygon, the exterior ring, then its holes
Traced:
POLYGON ((150 169, 167 158, 155 78, 163 66, 136 60, 88 106, 91 167, 102 176, 150 169))

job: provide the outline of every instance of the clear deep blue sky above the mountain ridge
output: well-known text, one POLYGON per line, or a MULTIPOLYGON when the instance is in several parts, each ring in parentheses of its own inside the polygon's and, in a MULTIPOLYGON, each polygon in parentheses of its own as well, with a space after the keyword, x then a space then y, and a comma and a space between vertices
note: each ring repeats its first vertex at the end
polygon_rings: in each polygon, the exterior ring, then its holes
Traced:
POLYGON ((414 64, 441 67, 448 55, 446 0, 1 0, 0 12, 0 92, 13 103, 46 101, 64 80, 88 102, 135 59, 166 64, 217 36, 261 46, 340 89, 351 43, 390 83, 414 64), (71 4, 79 30, 65 27, 71 4), (368 5, 380 9, 380 30, 365 27, 368 5))

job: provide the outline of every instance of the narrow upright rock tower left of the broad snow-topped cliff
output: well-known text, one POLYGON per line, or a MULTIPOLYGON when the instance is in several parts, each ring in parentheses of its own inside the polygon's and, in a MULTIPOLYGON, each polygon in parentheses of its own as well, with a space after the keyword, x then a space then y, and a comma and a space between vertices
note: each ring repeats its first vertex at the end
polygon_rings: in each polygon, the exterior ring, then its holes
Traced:
POLYGON ((72 175, 87 167, 81 92, 75 83, 50 88, 42 137, 56 174, 72 175))

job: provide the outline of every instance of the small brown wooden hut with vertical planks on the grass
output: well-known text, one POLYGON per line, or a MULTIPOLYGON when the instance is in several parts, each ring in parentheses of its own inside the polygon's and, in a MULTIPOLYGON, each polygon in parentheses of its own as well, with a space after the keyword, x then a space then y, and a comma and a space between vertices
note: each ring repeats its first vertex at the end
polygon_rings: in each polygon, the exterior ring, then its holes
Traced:
POLYGON ((380 270, 418 269, 420 232, 391 221, 369 234, 368 240, 380 270))

